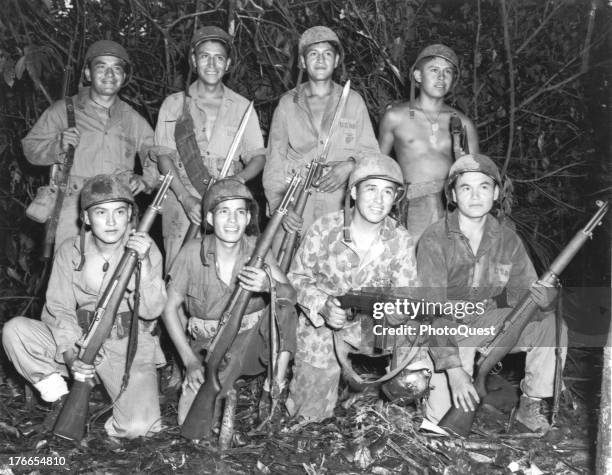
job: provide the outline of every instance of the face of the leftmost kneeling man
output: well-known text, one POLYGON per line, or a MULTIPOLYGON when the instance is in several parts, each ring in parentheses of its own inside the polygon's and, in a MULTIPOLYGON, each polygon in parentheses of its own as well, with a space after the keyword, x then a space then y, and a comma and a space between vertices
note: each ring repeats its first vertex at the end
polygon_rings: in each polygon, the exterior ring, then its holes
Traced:
POLYGON ((94 237, 104 244, 119 242, 132 218, 132 206, 124 201, 111 201, 93 205, 85 211, 85 224, 94 237))

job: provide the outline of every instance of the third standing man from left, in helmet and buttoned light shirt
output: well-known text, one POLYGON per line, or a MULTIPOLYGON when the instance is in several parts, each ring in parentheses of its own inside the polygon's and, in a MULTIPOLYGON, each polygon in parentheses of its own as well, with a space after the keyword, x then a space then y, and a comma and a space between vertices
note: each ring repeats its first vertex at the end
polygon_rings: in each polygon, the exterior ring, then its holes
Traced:
MULTIPOLYGON (((343 61, 336 33, 325 26, 306 30, 298 43, 300 75, 296 88, 284 94, 274 111, 263 186, 269 212, 279 205, 294 170, 304 170, 323 151, 342 87, 332 76, 343 61), (300 84, 303 72, 307 81, 300 84)), ((351 90, 331 140, 327 163, 310 196, 303 222, 290 212, 283 222, 293 232, 308 227, 330 211, 342 208, 346 181, 354 167, 350 157, 359 150, 378 152, 368 110, 361 96, 351 90)), ((279 233, 280 234, 280 233, 279 233)))

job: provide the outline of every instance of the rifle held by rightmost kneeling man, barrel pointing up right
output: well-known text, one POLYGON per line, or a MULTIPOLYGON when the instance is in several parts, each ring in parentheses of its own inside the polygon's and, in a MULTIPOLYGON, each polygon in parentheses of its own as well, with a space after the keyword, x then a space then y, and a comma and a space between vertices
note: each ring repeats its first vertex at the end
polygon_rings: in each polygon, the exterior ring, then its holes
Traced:
MULTIPOLYGON (((593 230, 601 223, 601 220, 608 211, 607 202, 598 201, 597 206, 599 209, 587 225, 576 233, 569 244, 565 246, 553 261, 546 273, 539 279, 542 283, 554 285, 557 281, 557 276, 563 272, 586 240, 592 236, 593 230)), ((487 348, 480 355, 477 362, 474 387, 481 401, 487 395, 487 375, 495 365, 514 348, 521 333, 531 321, 531 317, 536 310, 537 305, 532 300, 531 293, 527 291, 518 305, 514 307, 506 317, 501 331, 497 333, 495 338, 487 345, 487 348)), ((453 406, 440 420, 438 425, 452 434, 466 437, 472 428, 475 414, 476 411, 464 411, 462 408, 453 406)))

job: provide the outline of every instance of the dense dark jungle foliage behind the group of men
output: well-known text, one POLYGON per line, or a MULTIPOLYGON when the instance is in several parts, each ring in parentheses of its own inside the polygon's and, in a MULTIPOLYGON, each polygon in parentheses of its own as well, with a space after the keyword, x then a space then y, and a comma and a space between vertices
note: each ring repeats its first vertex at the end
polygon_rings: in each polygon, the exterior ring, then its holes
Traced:
MULTIPOLYGON (((507 170, 513 217, 541 268, 610 191, 610 6, 593 0, 3 0, 0 20, 0 307, 28 313, 39 291, 41 228, 24 207, 46 169, 25 161, 20 139, 53 100, 75 93, 87 46, 121 42, 134 62, 122 96, 155 124, 163 98, 193 76, 195 28, 235 37, 227 84, 254 98, 264 132, 297 79, 296 45, 324 24, 343 41, 338 81, 351 78, 377 128, 408 96, 408 71, 432 42, 455 49, 461 74, 450 102, 478 127, 481 150, 507 170), (11 300, 6 300, 11 298, 11 300)), ((574 263, 573 280, 601 283, 609 235, 574 263), (593 250, 592 249, 592 250, 593 250), (603 255, 602 255, 603 253, 603 255), (589 257, 590 256, 590 257, 589 257), (592 257, 598 256, 598 257, 592 257)), ((609 262, 609 259, 608 259, 609 262)), ((35 306, 36 307, 36 306, 35 306)), ((2 308, 0 308, 0 311, 2 308)), ((1 312, 4 313, 4 312, 1 312)))

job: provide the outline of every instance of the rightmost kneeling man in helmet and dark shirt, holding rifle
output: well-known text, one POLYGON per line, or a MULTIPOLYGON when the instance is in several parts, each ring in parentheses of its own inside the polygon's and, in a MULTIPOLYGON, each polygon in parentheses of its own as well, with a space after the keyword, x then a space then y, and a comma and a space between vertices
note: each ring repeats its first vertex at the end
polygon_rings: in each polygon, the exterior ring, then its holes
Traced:
POLYGON ((517 420, 532 431, 546 431, 549 422, 540 409, 542 399, 553 395, 557 292, 537 281, 521 239, 490 213, 503 198, 500 185, 499 170, 489 157, 461 157, 451 166, 445 186, 447 199, 456 209, 428 227, 419 242, 419 279, 434 298, 462 306, 480 305, 479 311, 456 312, 445 323, 465 324, 477 331, 452 337, 455 346, 430 350, 437 372, 432 377, 426 416, 437 423, 451 404, 475 408, 479 401, 471 379, 475 353, 501 330, 503 319, 529 291, 540 314, 527 325, 514 349, 527 351, 517 420))

